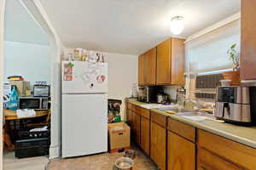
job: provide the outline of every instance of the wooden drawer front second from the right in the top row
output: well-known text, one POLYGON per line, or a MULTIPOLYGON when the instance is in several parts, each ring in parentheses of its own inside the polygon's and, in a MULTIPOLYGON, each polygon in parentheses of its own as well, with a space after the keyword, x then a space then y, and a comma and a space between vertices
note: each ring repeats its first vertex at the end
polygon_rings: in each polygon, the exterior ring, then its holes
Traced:
POLYGON ((195 127, 192 127, 183 122, 177 122, 172 118, 168 117, 167 119, 167 129, 177 133, 185 139, 189 139, 191 142, 195 143, 195 127))

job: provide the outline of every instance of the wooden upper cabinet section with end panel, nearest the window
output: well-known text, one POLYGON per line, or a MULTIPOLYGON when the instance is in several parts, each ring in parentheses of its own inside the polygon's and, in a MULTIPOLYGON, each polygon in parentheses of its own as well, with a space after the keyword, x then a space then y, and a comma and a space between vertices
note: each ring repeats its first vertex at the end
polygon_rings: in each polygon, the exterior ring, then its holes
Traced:
POLYGON ((170 38, 157 46, 156 84, 184 84, 184 39, 170 38))

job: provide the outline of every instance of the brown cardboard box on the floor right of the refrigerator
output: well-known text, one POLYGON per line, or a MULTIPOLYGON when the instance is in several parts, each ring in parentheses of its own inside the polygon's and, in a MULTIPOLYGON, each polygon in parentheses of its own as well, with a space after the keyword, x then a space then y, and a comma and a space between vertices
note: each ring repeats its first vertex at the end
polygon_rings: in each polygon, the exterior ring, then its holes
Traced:
POLYGON ((125 122, 108 124, 110 151, 130 148, 130 127, 125 122))

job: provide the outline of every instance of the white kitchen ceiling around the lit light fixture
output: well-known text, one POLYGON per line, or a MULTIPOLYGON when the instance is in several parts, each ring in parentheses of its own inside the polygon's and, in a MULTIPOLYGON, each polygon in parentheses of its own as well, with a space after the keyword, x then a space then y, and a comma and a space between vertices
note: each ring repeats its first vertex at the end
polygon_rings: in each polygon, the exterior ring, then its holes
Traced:
POLYGON ((142 54, 171 37, 183 15, 188 37, 240 11, 241 0, 40 0, 62 42, 120 54, 142 54))

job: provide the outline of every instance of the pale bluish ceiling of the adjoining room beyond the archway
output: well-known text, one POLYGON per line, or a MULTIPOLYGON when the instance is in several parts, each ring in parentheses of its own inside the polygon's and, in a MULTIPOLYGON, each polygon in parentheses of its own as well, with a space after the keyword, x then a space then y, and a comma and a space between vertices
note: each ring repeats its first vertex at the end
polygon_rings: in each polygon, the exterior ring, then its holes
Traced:
POLYGON ((5 9, 4 40, 48 44, 48 37, 38 23, 27 13, 19 0, 7 0, 5 9))

